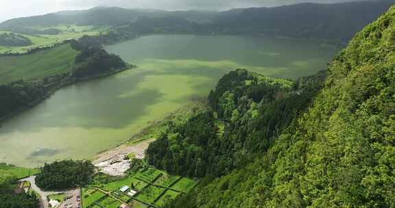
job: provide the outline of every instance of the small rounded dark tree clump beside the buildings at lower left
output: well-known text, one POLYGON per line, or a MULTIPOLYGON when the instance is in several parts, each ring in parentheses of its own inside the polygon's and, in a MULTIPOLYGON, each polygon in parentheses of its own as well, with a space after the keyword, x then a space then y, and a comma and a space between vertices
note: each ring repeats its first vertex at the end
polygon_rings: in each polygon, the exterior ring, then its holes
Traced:
POLYGON ((43 190, 62 190, 90 183, 94 173, 91 161, 55 161, 40 168, 36 184, 43 190))

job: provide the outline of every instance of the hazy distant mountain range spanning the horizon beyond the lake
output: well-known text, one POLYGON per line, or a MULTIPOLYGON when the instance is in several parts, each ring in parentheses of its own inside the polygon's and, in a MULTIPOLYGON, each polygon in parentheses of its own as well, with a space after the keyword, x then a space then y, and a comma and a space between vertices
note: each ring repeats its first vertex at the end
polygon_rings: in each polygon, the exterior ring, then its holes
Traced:
POLYGON ((346 42, 393 4, 395 0, 333 4, 300 3, 275 8, 241 8, 225 12, 195 10, 169 12, 97 7, 91 10, 63 11, 42 16, 15 18, 1 23, 0 30, 39 34, 40 31, 32 31, 31 27, 76 24, 123 26, 122 32, 128 34, 141 34, 141 31, 187 34, 264 34, 346 42), (174 23, 176 19, 177 23, 182 21, 184 23, 172 27, 171 23, 174 23), (138 28, 135 27, 136 22, 139 22, 138 28), (166 25, 166 28, 156 28, 159 22, 160 25, 166 25), (130 30, 125 31, 124 27, 130 30))

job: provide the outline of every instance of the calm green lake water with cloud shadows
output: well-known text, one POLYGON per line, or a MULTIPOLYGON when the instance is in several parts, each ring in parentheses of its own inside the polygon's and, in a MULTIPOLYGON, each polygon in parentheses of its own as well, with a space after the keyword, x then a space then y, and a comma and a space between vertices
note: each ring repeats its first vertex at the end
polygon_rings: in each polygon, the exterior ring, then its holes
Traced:
POLYGON ((205 96, 236 68, 296 78, 336 53, 311 42, 236 36, 146 36, 106 47, 139 68, 58 90, 0 127, 0 161, 35 167, 92 159, 150 121, 205 96))

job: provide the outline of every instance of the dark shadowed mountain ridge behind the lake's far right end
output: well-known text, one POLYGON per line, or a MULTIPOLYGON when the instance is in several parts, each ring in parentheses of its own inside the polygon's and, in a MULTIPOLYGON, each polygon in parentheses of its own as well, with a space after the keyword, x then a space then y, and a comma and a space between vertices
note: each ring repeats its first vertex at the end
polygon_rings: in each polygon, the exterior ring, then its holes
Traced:
POLYGON ((249 8, 218 14, 211 28, 219 33, 349 40, 393 4, 394 0, 381 0, 249 8))

